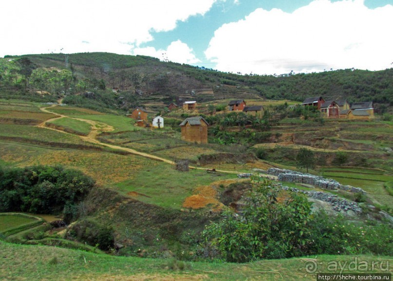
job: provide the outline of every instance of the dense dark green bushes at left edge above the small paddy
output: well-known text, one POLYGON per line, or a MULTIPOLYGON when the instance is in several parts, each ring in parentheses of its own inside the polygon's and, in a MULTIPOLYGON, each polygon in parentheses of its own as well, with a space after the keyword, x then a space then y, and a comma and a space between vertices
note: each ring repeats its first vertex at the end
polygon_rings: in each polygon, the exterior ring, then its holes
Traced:
POLYGON ((61 166, 0 168, 0 212, 63 213, 76 218, 76 206, 93 188, 94 180, 61 166))

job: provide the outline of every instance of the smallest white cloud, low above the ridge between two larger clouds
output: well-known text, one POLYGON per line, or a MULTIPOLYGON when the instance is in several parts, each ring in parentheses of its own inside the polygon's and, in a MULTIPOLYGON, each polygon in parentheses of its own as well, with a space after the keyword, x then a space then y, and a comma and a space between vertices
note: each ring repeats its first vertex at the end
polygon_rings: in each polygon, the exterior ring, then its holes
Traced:
POLYGON ((195 57, 193 50, 180 40, 170 43, 167 50, 156 50, 153 47, 136 48, 132 54, 149 55, 161 60, 169 60, 177 63, 194 64, 201 62, 195 57))

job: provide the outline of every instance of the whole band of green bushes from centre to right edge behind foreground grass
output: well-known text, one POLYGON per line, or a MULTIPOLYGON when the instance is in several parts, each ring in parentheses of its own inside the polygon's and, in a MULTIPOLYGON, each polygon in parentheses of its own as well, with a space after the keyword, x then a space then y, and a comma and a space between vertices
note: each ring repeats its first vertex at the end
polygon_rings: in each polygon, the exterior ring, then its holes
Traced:
MULTIPOLYGON (((233 190, 223 193, 226 204, 236 197, 233 190)), ((238 263, 320 254, 393 254, 391 224, 354 223, 323 211, 312 214, 304 196, 290 193, 282 201, 279 194, 269 181, 253 183, 241 212, 224 211, 220 221, 205 228, 201 253, 238 263)))

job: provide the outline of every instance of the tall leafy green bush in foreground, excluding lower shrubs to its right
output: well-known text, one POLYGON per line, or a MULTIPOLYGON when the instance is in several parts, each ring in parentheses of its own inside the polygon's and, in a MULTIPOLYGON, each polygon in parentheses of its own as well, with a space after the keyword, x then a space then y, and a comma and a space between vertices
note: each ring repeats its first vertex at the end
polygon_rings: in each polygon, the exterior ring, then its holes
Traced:
POLYGON ((237 263, 302 255, 309 244, 310 203, 296 193, 283 203, 277 197, 270 182, 254 184, 242 214, 225 211, 220 222, 206 227, 206 245, 237 263))

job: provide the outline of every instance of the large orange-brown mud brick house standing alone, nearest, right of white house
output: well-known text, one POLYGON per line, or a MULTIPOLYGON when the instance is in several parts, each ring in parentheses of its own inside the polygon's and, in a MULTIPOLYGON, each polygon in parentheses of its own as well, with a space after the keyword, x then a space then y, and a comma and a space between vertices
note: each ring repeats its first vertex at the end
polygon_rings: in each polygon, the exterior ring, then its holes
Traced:
POLYGON ((209 124, 201 117, 186 118, 181 124, 182 140, 207 143, 207 126, 209 124))

